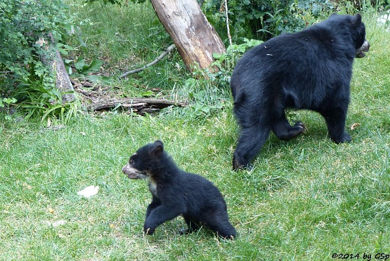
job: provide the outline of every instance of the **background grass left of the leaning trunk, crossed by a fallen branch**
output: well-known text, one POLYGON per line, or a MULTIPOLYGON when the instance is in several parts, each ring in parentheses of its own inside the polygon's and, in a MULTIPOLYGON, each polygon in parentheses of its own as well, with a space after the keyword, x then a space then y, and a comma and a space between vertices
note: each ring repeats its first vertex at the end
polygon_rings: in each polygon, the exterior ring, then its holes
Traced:
MULTIPOLYGON (((78 14, 81 39, 87 44, 87 50, 80 47, 80 52, 103 60, 110 75, 119 76, 146 65, 173 43, 149 2, 118 6, 98 1, 80 6, 79 0, 69 1, 78 3, 72 11, 78 14)), ((74 46, 78 44, 72 42, 74 46)), ((173 51, 155 66, 114 85, 123 97, 139 96, 148 88, 161 88, 166 95, 188 74, 178 52, 173 51)))

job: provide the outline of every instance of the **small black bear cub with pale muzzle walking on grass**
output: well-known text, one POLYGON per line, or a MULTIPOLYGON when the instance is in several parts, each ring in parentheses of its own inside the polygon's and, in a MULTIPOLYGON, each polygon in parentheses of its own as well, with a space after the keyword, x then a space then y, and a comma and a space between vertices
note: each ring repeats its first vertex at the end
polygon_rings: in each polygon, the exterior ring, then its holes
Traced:
POLYGON ((180 170, 161 141, 138 149, 122 172, 130 179, 149 180, 153 198, 146 210, 146 234, 153 234, 163 222, 182 215, 187 233, 206 225, 222 238, 235 238, 226 203, 217 187, 199 175, 180 170))

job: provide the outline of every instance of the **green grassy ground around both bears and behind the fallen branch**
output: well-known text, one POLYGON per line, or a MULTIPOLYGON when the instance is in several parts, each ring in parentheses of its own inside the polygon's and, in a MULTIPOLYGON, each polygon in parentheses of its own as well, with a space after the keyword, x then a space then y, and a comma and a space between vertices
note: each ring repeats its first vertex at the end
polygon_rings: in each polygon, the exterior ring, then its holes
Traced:
MULTIPOLYGON (((147 39, 148 28, 162 26, 145 6, 107 8, 78 10, 95 23, 85 32, 96 46, 90 56, 105 56, 113 67, 130 57, 143 64, 158 55, 156 46, 171 44, 164 32, 160 42, 147 39), (145 23, 133 21, 140 15, 145 23), (110 17, 130 22, 105 22, 110 17), (133 25, 140 29, 130 32, 133 25), (116 32, 129 42, 120 45, 116 32)), ((390 254, 390 32, 374 18, 364 21, 371 49, 354 63, 346 123, 352 142, 331 142, 317 113, 290 113, 307 132, 287 142, 272 134, 251 172, 232 171, 238 127, 231 105, 197 120, 188 108, 147 117, 80 115, 58 130, 0 114, 0 260, 333 260, 333 253, 375 260, 376 253, 390 254), (360 125, 351 130, 353 123, 360 125), (145 181, 129 180, 121 167, 157 139, 182 169, 220 189, 235 241, 218 241, 207 229, 179 235, 182 218, 143 236, 151 195, 145 181), (98 194, 79 197, 89 185, 98 185, 98 194), (66 223, 48 225, 55 221, 66 223)), ((142 84, 180 86, 186 73, 177 72, 177 56, 118 84, 135 94, 142 84)))

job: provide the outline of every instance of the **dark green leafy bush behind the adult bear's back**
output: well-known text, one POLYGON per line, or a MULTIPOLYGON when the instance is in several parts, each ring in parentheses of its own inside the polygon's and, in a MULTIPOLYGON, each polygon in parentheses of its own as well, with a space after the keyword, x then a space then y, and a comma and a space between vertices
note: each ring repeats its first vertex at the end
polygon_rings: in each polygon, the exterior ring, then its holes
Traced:
MULTIPOLYGON (((206 14, 217 27, 225 27, 220 0, 205 4, 206 14)), ((296 32, 306 27, 308 18, 317 18, 333 9, 330 0, 229 0, 228 11, 232 37, 267 40, 280 33, 296 32)))

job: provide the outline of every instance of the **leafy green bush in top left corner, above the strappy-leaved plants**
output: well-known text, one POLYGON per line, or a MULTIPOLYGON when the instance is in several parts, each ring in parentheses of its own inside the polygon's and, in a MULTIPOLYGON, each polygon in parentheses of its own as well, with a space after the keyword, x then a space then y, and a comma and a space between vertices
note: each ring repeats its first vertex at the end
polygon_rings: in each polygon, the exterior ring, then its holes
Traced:
POLYGON ((40 60, 50 55, 41 48, 43 36, 51 32, 60 41, 62 28, 70 29, 66 6, 60 0, 0 0, 0 11, 0 68, 24 80, 48 74, 40 60))

